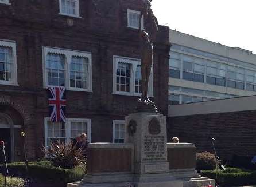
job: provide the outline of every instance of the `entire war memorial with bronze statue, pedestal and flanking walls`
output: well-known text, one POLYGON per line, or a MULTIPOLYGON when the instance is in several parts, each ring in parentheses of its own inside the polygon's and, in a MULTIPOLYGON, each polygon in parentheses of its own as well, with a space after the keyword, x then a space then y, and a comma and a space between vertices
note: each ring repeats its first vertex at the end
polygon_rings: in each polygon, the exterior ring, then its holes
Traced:
POLYGON ((143 15, 145 29, 139 23, 142 95, 136 111, 125 118, 125 143, 89 144, 86 176, 67 187, 215 186, 214 180, 201 177, 195 170, 195 144, 167 143, 166 116, 147 97, 158 28, 150 1, 144 2, 141 18, 143 15))

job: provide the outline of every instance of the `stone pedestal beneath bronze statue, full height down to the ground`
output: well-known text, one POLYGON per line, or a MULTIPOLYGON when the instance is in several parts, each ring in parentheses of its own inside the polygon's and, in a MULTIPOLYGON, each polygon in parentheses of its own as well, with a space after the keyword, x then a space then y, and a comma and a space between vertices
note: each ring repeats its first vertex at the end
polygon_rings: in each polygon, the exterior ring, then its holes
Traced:
MULTIPOLYGON (((125 128, 125 142, 134 145, 134 184, 171 186, 167 161, 166 117, 160 113, 134 113, 125 118, 125 128)), ((173 186, 181 186, 181 182, 178 184, 175 181, 173 186)))

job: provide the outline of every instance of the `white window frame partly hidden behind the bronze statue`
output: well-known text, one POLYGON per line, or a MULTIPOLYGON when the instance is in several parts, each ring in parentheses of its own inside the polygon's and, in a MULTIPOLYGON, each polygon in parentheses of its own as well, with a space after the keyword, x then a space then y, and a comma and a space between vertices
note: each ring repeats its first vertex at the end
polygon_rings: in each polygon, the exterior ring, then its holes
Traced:
MULTIPOLYGON (((141 96, 141 93, 135 92, 135 75, 136 75, 137 65, 141 65, 141 59, 121 57, 117 55, 113 56, 113 94, 124 95, 124 96, 141 96), (119 61, 131 64, 130 92, 117 91, 117 67, 118 67, 119 61)), ((153 97, 153 64, 152 64, 151 73, 149 76, 148 97, 153 97)))

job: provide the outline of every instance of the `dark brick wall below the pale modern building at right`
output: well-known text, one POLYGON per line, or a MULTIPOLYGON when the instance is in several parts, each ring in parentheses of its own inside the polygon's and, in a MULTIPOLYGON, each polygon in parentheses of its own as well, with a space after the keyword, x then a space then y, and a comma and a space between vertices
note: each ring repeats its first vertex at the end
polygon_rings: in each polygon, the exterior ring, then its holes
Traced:
POLYGON ((168 118, 168 141, 195 143, 197 152, 214 153, 211 137, 215 138, 217 154, 222 160, 234 155, 256 154, 256 110, 168 118))

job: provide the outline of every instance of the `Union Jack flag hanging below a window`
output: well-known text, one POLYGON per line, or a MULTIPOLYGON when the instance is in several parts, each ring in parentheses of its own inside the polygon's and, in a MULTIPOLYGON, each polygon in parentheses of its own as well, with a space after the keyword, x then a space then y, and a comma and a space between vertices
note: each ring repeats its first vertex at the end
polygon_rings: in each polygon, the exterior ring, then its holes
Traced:
POLYGON ((48 87, 48 104, 51 122, 65 122, 66 93, 65 87, 48 87))

